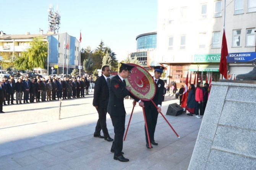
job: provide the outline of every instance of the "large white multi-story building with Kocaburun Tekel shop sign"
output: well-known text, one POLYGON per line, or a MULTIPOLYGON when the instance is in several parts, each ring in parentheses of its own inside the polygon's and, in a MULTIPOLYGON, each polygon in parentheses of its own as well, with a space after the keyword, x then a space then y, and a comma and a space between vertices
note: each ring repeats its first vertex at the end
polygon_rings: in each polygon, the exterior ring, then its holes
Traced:
MULTIPOLYGON (((157 63, 168 65, 169 81, 179 86, 188 71, 198 70, 203 80, 206 72, 219 79, 224 0, 158 0, 157 19, 157 63)), ((256 0, 226 0, 227 62, 233 76, 253 69, 255 27, 256 0)))

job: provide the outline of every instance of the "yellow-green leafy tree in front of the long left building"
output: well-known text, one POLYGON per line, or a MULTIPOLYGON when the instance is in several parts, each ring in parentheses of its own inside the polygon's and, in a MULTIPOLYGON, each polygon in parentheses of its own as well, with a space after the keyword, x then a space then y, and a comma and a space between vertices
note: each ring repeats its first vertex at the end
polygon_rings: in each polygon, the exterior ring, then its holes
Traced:
POLYGON ((21 57, 16 58, 15 67, 24 70, 31 70, 34 67, 44 68, 47 53, 48 43, 43 41, 42 37, 33 38, 30 43, 30 48, 22 52, 21 57))

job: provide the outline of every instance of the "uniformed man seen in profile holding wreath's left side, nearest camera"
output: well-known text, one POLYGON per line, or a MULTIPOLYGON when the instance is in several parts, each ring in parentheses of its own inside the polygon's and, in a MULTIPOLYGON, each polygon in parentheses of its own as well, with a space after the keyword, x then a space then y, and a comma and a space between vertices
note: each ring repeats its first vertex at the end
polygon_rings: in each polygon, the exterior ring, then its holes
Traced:
POLYGON ((125 106, 123 99, 130 95, 144 107, 143 101, 131 95, 131 87, 126 87, 125 78, 127 78, 134 66, 121 63, 119 74, 113 77, 109 85, 109 103, 107 112, 109 112, 114 127, 115 138, 112 143, 111 152, 114 152, 114 159, 121 162, 127 162, 129 159, 123 157, 123 135, 125 133, 125 106))

